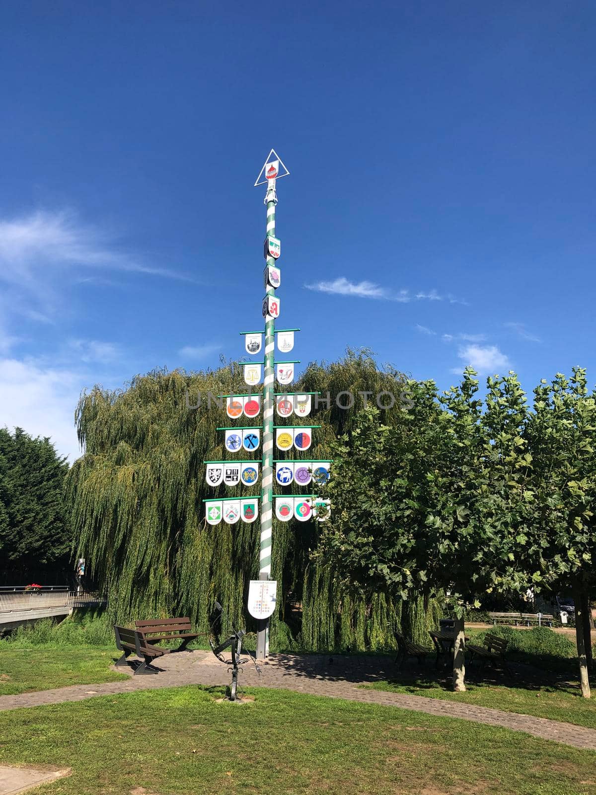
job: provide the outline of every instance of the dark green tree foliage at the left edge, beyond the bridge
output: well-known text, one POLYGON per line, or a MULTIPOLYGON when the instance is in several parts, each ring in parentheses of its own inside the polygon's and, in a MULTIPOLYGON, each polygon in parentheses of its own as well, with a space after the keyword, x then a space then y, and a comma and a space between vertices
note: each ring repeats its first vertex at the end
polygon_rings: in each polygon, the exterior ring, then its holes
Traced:
POLYGON ((48 437, 0 428, 0 556, 11 568, 67 562, 72 542, 64 508, 67 472, 68 463, 48 437))

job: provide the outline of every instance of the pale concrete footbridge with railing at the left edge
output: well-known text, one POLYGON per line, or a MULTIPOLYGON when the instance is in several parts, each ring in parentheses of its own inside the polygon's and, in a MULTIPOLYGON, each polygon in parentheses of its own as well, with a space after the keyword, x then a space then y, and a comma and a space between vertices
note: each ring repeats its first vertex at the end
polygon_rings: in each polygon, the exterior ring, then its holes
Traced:
POLYGON ((71 615, 77 607, 93 607, 106 603, 103 596, 76 591, 68 585, 45 586, 25 590, 25 586, 0 588, 0 633, 19 624, 71 615))

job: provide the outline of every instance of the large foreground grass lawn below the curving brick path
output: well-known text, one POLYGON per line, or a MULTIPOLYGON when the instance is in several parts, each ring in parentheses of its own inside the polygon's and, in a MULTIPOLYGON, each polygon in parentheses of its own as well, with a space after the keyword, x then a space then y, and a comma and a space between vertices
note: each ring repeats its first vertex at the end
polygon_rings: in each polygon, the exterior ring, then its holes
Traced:
POLYGON ((519 732, 255 688, 169 688, 0 712, 0 762, 72 767, 56 795, 594 795, 596 754, 519 732))

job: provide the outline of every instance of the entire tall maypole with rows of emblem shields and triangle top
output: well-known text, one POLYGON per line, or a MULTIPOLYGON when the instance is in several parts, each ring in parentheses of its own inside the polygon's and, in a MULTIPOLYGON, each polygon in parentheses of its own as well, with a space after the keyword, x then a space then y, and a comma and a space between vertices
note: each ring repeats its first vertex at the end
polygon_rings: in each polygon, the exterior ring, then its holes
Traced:
MULTIPOLYGON (((232 456, 239 452, 257 452, 262 441, 261 460, 204 461, 207 465, 207 483, 219 489, 220 496, 204 499, 205 520, 209 525, 226 522, 235 525, 242 522, 255 522, 261 503, 261 533, 259 538, 259 579, 250 580, 248 610, 257 619, 257 659, 264 660, 269 654, 269 616, 273 615, 277 604, 277 582, 271 580, 271 558, 273 548, 273 502, 275 514, 280 522, 296 519, 306 522, 311 518, 324 521, 328 514, 327 500, 317 500, 316 494, 288 494, 287 491, 273 494, 273 481, 281 489, 315 486, 325 483, 329 478, 331 461, 308 459, 273 459, 273 444, 281 452, 307 452, 312 444, 312 431, 319 425, 301 423, 273 425, 273 413, 289 420, 292 415, 308 417, 312 409, 312 392, 275 392, 275 381, 283 386, 291 384, 295 374, 296 359, 275 361, 275 346, 282 353, 292 351, 294 332, 299 328, 276 329, 275 321, 280 316, 280 300, 276 290, 281 284, 281 271, 276 265, 281 251, 281 242, 275 236, 275 210, 277 205, 276 180, 288 176, 277 153, 272 149, 255 186, 266 184, 265 207, 267 207, 267 227, 265 235, 265 297, 262 316, 265 320, 265 356, 261 362, 253 359, 243 362, 244 381, 251 389, 261 382, 263 392, 254 394, 220 395, 226 398, 226 415, 231 420, 242 421, 242 417, 254 419, 263 411, 262 425, 228 425, 217 430, 225 433, 224 446, 232 456), (277 337, 276 337, 277 335, 277 337), (275 435, 275 439, 273 436, 275 435), (236 491, 242 483, 245 487, 256 487, 261 467, 261 494, 236 497, 229 490, 236 491), (223 487, 223 491, 222 490, 223 487), (223 491, 223 493, 222 493, 223 491)), ((263 329, 256 332, 240 332, 245 338, 246 353, 257 355, 261 351, 263 329)))

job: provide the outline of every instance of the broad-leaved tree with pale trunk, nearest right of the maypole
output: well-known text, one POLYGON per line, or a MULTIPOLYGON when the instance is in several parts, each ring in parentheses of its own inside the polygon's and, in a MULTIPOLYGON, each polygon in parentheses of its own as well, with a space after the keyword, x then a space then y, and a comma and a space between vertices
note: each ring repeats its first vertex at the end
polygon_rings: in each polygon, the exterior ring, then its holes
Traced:
POLYGON ((410 382, 412 408, 390 427, 371 406, 359 413, 333 451, 323 490, 332 510, 315 553, 354 591, 443 592, 456 616, 455 690, 465 689, 466 608, 541 577, 524 568, 535 500, 525 397, 514 374, 488 387, 483 411, 466 368, 440 396, 434 382, 410 382))

